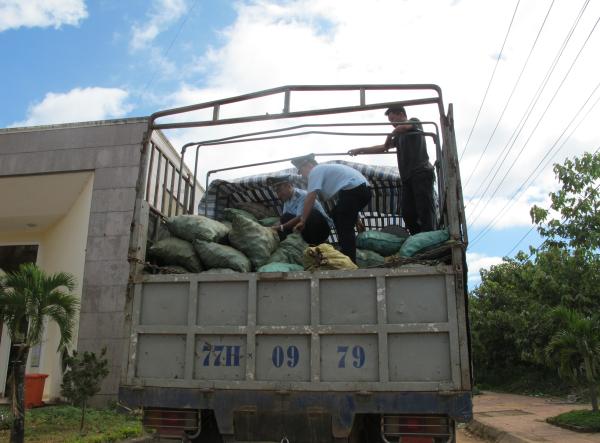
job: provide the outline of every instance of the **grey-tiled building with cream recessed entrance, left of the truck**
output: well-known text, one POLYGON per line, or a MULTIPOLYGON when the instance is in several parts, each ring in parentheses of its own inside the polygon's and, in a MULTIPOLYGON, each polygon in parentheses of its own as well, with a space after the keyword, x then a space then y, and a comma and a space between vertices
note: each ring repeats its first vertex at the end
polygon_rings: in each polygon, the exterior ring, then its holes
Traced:
MULTIPOLYGON (((81 309, 71 347, 108 351, 100 402, 116 396, 127 343, 123 318, 138 190, 167 214, 184 204, 195 208, 203 192, 192 186, 186 166, 180 174, 179 154, 160 131, 144 143, 147 130, 147 118, 0 129, 0 269, 34 261, 48 273, 75 276, 81 309), (150 155, 142 156, 148 148, 150 155), (150 171, 148 180, 139 178, 141 166, 150 171)), ((58 327, 49 323, 27 362, 26 373, 49 375, 44 400, 60 396, 58 343, 58 327)), ((2 328, 0 397, 10 349, 2 328)))

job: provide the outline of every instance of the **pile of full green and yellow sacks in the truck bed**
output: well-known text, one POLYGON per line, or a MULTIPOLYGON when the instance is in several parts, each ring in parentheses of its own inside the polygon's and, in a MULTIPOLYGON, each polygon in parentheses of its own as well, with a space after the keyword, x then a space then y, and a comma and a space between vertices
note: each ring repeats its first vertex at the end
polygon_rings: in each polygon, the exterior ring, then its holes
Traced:
POLYGON ((445 230, 408 238, 381 231, 362 232, 357 237, 357 266, 330 244, 309 247, 299 233, 279 241, 270 228, 278 220, 268 213, 241 208, 226 209, 222 222, 202 215, 171 217, 166 220, 169 236, 152 244, 147 257, 161 273, 357 269, 383 266, 386 257, 410 257, 448 240, 445 230))

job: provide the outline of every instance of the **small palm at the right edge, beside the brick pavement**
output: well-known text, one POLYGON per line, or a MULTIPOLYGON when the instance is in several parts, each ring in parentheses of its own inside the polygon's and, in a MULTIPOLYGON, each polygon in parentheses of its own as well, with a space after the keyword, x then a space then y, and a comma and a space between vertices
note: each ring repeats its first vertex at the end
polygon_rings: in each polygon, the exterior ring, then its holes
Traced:
POLYGON ((598 411, 600 382, 600 318, 585 317, 564 307, 554 310, 563 328, 552 336, 546 356, 558 364, 561 378, 587 388, 592 410, 598 411))

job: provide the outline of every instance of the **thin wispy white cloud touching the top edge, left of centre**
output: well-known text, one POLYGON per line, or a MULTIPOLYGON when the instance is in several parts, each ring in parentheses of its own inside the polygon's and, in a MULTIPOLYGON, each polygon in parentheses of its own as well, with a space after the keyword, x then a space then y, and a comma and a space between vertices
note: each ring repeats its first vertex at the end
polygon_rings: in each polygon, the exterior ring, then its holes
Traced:
POLYGON ((136 23, 131 28, 132 50, 148 48, 154 39, 168 29, 186 12, 185 0, 154 0, 144 23, 136 23))

